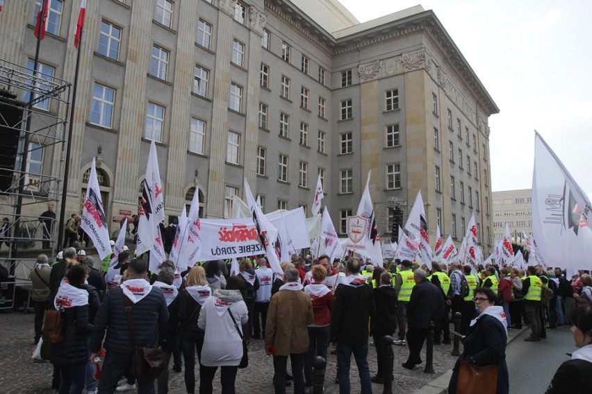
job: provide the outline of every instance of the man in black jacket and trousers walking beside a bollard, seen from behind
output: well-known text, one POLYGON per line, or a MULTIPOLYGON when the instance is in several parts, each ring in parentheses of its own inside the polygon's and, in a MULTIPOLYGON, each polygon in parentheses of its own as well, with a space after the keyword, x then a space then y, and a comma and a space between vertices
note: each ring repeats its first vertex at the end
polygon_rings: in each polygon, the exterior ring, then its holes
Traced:
POLYGON ((427 280, 425 271, 416 270, 413 277, 416 285, 413 286, 409 305, 407 305, 409 358, 403 363, 403 367, 407 369, 413 369, 422 363, 420 353, 427 336, 429 323, 442 318, 445 311, 442 291, 427 280))

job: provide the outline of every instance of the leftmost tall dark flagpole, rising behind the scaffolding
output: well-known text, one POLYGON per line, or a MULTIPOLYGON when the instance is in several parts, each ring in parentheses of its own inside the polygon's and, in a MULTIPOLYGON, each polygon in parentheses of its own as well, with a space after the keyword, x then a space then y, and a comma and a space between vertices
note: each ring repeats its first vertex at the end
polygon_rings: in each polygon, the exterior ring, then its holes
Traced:
MULTIPOLYGON (((33 80, 37 77, 37 72, 39 69, 39 53, 41 50, 41 40, 42 40, 42 28, 45 27, 45 10, 47 8, 47 0, 43 0, 41 2, 41 20, 39 26, 39 33, 37 35, 37 46, 35 46, 35 59, 33 60, 33 80)), ((44 32, 43 32, 44 33, 44 32)), ((35 84, 33 82, 33 84, 35 84)), ((24 191, 24 181, 25 181, 25 173, 26 173, 26 165, 28 162, 28 134, 31 132, 31 109, 33 108, 33 102, 37 95, 35 91, 31 91, 31 96, 29 97, 29 101, 27 103, 26 108, 26 122, 25 122, 25 130, 23 136, 23 144, 22 144, 22 159, 21 159, 21 168, 19 174, 19 191, 17 194, 17 203, 15 207, 15 223, 13 223, 13 230, 12 230, 12 238, 15 239, 15 235, 17 232, 17 228, 20 225, 20 218, 22 212, 22 205, 23 205, 23 191, 24 191)), ((17 242, 13 242, 10 244, 10 257, 15 258, 17 257, 17 242)), ((15 264, 10 264, 10 275, 14 275, 15 273, 15 264)))

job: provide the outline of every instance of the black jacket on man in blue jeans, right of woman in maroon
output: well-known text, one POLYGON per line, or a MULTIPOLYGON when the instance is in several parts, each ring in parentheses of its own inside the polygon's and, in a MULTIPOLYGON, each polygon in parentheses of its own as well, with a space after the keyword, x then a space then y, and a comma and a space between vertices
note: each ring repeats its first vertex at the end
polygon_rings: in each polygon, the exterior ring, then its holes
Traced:
POLYGON ((340 284, 331 309, 331 342, 359 345, 368 342, 368 318, 376 311, 368 284, 340 284))

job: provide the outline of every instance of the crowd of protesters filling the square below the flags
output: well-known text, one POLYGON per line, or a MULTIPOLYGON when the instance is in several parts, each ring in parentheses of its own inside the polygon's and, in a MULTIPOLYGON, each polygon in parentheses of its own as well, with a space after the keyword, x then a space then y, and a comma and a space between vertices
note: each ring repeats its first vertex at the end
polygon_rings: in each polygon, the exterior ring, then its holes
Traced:
MULTIPOLYGON (((167 393, 172 362, 177 372, 185 366, 187 393, 213 393, 220 367, 222 393, 231 394, 245 359, 243 349, 251 339, 263 339, 265 352, 273 357, 275 393, 285 393, 292 384, 295 393, 310 393, 313 359, 327 359, 332 348, 337 368, 327 376, 334 374, 340 393, 350 393, 353 354, 361 394, 370 394, 372 383, 393 379, 384 365, 384 336, 409 346, 402 366, 413 370, 422 363, 430 323, 435 325, 434 345, 451 343, 455 312, 462 316, 460 334, 472 343, 472 348, 466 345, 467 358, 481 343, 475 339, 482 335, 479 327, 500 325, 483 317, 494 310, 504 315, 498 320, 506 330, 530 325, 529 342, 541 341, 546 329, 566 324, 575 323, 584 333, 590 330, 583 320, 588 315, 580 309, 592 303, 592 278, 583 272, 566 277, 559 268, 545 272, 529 266, 525 272, 492 265, 479 267, 474 275, 475 270, 458 261, 434 261, 428 269, 409 260, 373 265, 354 257, 330 262, 325 255, 294 255, 292 262, 281 263, 283 275, 272 272, 265 257, 256 256, 239 259, 234 275, 231 263, 222 260, 200 262, 183 273, 165 261, 156 275, 148 271, 147 258, 131 258, 125 250, 117 257, 117 274, 107 275, 108 270, 97 271, 92 258, 81 252, 65 248, 53 263, 40 255, 31 270, 35 343, 42 337, 45 311, 61 311, 64 339, 51 345, 49 357, 53 388, 59 393, 167 393), (488 309, 494 305, 499 309, 488 309), (368 366, 369 343, 377 352, 374 375, 368 366), (163 372, 155 379, 136 379, 135 348, 158 347, 163 372), (100 376, 95 374, 99 360, 100 376)), ((504 338, 502 334, 503 346, 491 354, 505 371, 498 393, 508 392, 504 338)), ((588 344, 582 341, 582 347, 588 344)))

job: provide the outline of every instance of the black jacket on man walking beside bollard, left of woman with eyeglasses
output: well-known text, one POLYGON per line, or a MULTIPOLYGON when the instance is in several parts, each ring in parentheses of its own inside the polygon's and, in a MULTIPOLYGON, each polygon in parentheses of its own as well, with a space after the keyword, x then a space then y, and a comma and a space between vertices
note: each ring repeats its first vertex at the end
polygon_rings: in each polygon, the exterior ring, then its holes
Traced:
POLYGON ((445 312, 442 290, 425 279, 413 286, 407 305, 409 328, 429 328, 429 322, 436 322, 445 312))

